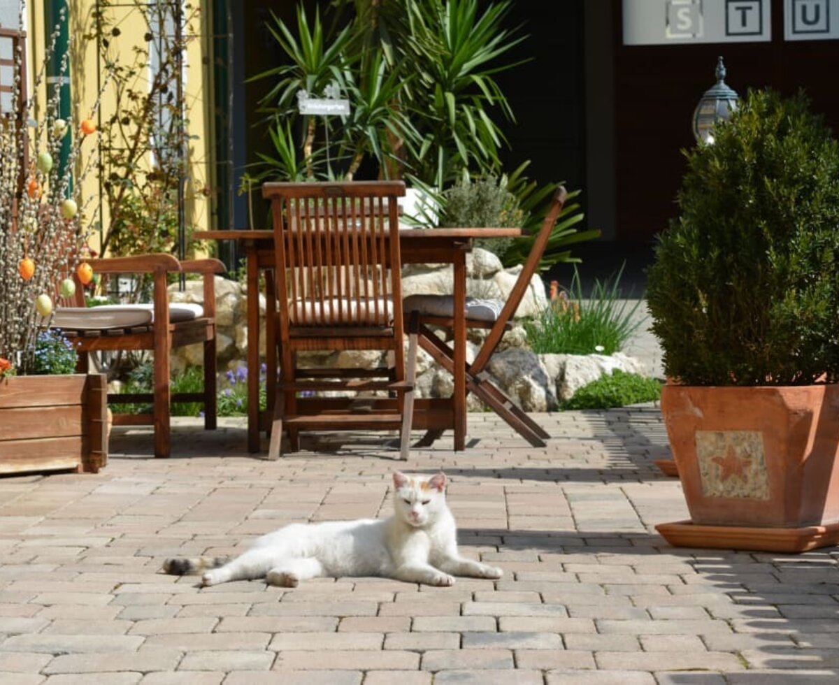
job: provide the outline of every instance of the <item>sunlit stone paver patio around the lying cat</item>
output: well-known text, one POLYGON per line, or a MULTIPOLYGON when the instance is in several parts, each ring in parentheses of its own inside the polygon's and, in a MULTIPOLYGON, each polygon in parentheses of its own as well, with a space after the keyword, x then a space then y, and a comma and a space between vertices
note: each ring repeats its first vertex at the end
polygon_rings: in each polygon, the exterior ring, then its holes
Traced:
MULTIPOLYGON (((659 412, 555 413, 534 449, 489 414, 470 445, 381 435, 248 455, 244 423, 112 436, 99 475, 0 479, 0 682, 790 683, 839 679, 839 551, 675 549, 687 517, 659 412), (464 553, 500 581, 318 579, 200 589, 164 558, 227 554, 288 522, 387 516, 393 468, 451 476, 464 553)), ((306 446, 306 445, 305 445, 306 446)))

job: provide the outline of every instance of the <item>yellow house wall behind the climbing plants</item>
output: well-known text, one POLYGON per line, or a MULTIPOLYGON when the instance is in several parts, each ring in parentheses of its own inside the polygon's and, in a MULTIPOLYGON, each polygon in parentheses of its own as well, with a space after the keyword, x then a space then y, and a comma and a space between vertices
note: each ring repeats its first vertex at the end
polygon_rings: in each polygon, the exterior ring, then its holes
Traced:
MULTIPOLYGON (((125 0, 131 3, 132 0, 125 0)), ((142 6, 144 3, 138 2, 142 6)), ((203 0, 193 0, 191 6, 197 8, 197 13, 192 10, 185 10, 185 15, 190 18, 186 34, 192 36, 188 42, 186 55, 185 75, 185 99, 188 118, 188 165, 187 183, 185 186, 185 215, 188 226, 195 230, 210 228, 210 198, 208 192, 209 179, 211 179, 211 141, 208 139, 211 128, 211 88, 209 75, 211 70, 203 65, 203 49, 208 41, 206 34, 206 5, 203 0)), ((70 8, 69 30, 70 30, 70 89, 73 105, 71 107, 72 130, 77 134, 81 119, 91 117, 96 107, 98 96, 97 86, 97 55, 96 39, 94 34, 94 8, 95 0, 68 0, 70 8)), ((29 89, 31 92, 34 80, 37 77, 37 70, 44 62, 44 13, 43 0, 29 0, 28 8, 28 52, 29 52, 29 89)), ((119 23, 121 34, 118 37, 119 59, 121 61, 132 60, 131 46, 143 44, 143 34, 146 30, 146 23, 142 17, 136 14, 137 10, 127 13, 124 9, 111 10, 123 13, 122 21, 119 23)), ((112 41, 117 46, 117 39, 112 41)), ((112 53, 113 54, 113 53, 112 53)), ((138 81, 134 84, 136 89, 142 86, 147 78, 148 70, 137 70, 138 81)), ((104 75, 104 72, 102 72, 104 75)), ((107 120, 114 112, 116 98, 114 94, 115 84, 108 84, 102 96, 100 116, 92 116, 94 121, 101 121, 107 125, 107 120)), ((45 88, 39 88, 39 105, 35 112, 36 117, 43 112, 45 88)), ((81 174, 81 163, 91 159, 91 153, 96 154, 92 139, 83 143, 82 153, 79 160, 81 174)), ((100 197, 99 176, 96 173, 87 174, 81 188, 82 207, 88 221, 97 222, 102 219, 104 226, 107 226, 109 216, 107 206, 102 206, 100 197)), ((91 241, 91 246, 98 249, 98 237, 91 241)))

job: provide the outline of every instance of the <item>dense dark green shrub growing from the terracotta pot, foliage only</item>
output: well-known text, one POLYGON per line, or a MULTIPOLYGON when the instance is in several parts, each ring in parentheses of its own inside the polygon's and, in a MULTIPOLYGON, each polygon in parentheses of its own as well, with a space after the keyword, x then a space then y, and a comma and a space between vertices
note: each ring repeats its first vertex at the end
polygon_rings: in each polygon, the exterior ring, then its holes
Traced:
POLYGON ((750 91, 687 151, 649 310, 685 385, 839 380, 839 144, 803 94, 750 91))

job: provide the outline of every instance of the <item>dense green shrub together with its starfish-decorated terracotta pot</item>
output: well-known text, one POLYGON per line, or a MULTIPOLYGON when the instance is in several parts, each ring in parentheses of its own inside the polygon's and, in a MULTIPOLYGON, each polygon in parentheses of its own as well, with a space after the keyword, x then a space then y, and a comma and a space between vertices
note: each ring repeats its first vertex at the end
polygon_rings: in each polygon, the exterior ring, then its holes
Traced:
POLYGON ((839 145, 803 94, 751 91, 685 153, 649 269, 661 408, 690 521, 672 544, 839 542, 839 145))

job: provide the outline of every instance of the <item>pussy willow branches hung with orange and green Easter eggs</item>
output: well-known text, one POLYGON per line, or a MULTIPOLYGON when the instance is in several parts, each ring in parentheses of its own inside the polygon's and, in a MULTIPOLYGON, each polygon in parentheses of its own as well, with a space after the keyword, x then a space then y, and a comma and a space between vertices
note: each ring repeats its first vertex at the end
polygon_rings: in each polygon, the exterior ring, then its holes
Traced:
MULTIPOLYGON (((26 3, 18 5, 20 24, 26 3)), ((67 8, 60 21, 66 21, 67 8)), ((55 28, 44 60, 34 77, 34 93, 46 82, 46 66, 55 50, 55 28)), ((72 41, 72 36, 70 36, 72 41)), ((68 50, 69 54, 69 50, 68 50)), ((59 116, 60 82, 47 86, 45 106, 35 97, 22 101, 21 73, 25 55, 13 52, 11 112, 0 117, 0 359, 21 374, 35 369, 35 346, 50 323, 57 295, 69 297, 75 286, 62 283, 84 256, 90 226, 83 226, 83 181, 96 169, 96 126, 91 112, 78 119, 59 116), (32 125, 34 122, 34 126, 32 125), (65 163, 61 148, 70 138, 65 163), (82 148, 86 149, 83 158, 82 148)), ((67 71, 65 54, 61 73, 67 71)), ((57 80, 60 81, 60 80, 57 80)))

